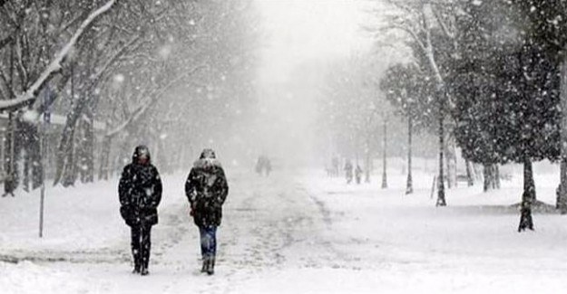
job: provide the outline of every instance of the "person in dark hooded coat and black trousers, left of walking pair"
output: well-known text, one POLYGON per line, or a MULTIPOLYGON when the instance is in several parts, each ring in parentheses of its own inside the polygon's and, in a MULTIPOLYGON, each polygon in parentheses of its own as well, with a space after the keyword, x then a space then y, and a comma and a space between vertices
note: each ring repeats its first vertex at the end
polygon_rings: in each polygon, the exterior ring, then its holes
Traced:
POLYGON ((149 273, 150 236, 152 225, 158 223, 161 201, 160 174, 150 159, 148 147, 136 147, 132 163, 124 166, 118 185, 120 213, 132 231, 132 272, 142 276, 149 273))

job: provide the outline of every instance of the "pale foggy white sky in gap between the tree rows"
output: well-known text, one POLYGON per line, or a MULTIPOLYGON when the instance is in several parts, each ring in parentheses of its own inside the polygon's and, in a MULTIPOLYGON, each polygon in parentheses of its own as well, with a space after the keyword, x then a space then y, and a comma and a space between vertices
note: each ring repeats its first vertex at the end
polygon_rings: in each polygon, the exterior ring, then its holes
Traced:
POLYGON ((310 155, 321 65, 367 50, 372 43, 361 29, 369 17, 362 9, 365 0, 256 2, 264 33, 258 80, 263 113, 259 152, 310 155))

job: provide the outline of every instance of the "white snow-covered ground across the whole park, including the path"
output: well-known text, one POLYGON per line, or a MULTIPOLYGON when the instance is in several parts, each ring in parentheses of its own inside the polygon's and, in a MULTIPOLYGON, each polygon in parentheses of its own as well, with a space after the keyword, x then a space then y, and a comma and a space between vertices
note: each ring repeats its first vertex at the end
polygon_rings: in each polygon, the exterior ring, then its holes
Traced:
MULTIPOLYGON (((537 170, 537 168, 536 168, 537 170)), ((391 170, 346 185, 318 171, 268 178, 228 170, 230 195, 214 276, 199 272, 197 230, 184 174, 162 175, 160 223, 152 231, 151 274, 130 272, 129 231, 116 180, 48 187, 44 238, 39 195, 0 198, 1 293, 562 293, 567 289, 567 217, 534 215, 516 232, 522 178, 483 194, 480 185, 431 199, 433 175, 416 171, 415 194, 391 170)), ((536 176, 554 204, 557 174, 536 176)))

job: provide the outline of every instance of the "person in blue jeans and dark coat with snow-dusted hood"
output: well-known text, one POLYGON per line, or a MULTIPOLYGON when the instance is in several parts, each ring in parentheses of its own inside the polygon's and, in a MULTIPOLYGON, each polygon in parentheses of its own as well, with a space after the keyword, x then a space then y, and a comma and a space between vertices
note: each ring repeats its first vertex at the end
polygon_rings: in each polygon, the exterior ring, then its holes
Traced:
POLYGON ((217 254, 217 227, 222 218, 222 204, 229 185, 212 149, 204 149, 195 161, 185 183, 185 194, 191 204, 193 222, 199 227, 201 272, 214 273, 217 254))

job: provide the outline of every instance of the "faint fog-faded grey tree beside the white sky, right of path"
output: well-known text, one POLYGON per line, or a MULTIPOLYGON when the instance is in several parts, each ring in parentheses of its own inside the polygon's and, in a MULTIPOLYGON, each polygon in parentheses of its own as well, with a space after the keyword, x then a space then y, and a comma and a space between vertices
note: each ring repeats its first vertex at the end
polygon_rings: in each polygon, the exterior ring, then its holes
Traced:
POLYGON ((370 161, 376 146, 376 129, 386 119, 379 109, 368 72, 375 68, 363 56, 339 60, 328 67, 323 81, 325 97, 319 102, 319 125, 328 129, 327 136, 335 152, 354 157, 356 166, 364 162, 366 180, 370 177, 370 161))

